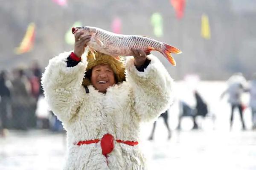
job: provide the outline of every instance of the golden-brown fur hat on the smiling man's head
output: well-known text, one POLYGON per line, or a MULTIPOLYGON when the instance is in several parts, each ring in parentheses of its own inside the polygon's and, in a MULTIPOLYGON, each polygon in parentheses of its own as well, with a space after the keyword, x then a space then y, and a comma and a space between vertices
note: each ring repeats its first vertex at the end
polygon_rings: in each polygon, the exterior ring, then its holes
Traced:
POLYGON ((115 75, 116 83, 125 81, 125 65, 123 64, 123 62, 118 61, 117 59, 115 59, 110 55, 103 54, 98 51, 96 51, 94 54, 96 59, 94 59, 93 54, 90 51, 88 51, 88 54, 87 54, 88 64, 85 72, 85 77, 82 83, 84 86, 91 85, 90 77, 92 73, 92 68, 95 67, 96 65, 101 65, 101 64, 108 64, 112 68, 115 75))

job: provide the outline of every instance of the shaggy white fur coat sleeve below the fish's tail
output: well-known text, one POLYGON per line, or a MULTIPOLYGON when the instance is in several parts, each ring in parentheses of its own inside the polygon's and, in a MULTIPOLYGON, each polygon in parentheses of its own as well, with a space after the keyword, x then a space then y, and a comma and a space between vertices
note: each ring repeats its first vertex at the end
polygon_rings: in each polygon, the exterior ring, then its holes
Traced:
POLYGON ((151 60, 144 72, 134 66, 134 58, 127 61, 127 81, 131 83, 134 96, 134 109, 140 121, 156 119, 172 104, 173 79, 157 57, 151 60))

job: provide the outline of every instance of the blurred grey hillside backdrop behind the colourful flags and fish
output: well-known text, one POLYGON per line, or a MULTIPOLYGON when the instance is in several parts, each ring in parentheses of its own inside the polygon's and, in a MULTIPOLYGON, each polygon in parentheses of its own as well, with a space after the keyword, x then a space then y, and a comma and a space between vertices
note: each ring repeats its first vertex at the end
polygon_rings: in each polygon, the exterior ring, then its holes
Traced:
POLYGON ((154 52, 175 79, 182 79, 186 74, 199 74, 201 79, 227 79, 238 71, 250 79, 256 72, 256 3, 253 0, 243 0, 243 3, 237 0, 187 0, 181 20, 176 19, 169 0, 70 0, 67 7, 50 0, 1 2, 1 69, 12 69, 33 60, 40 61, 44 67, 54 55, 73 48, 65 43, 64 35, 75 21, 111 31, 111 21, 118 16, 122 20, 122 34, 146 35, 183 51, 183 54, 174 55, 176 67, 154 52), (153 34, 150 17, 154 12, 163 16, 163 37, 153 34), (210 40, 201 37, 203 13, 209 17, 210 40), (34 49, 16 55, 13 50, 30 22, 36 24, 34 49))

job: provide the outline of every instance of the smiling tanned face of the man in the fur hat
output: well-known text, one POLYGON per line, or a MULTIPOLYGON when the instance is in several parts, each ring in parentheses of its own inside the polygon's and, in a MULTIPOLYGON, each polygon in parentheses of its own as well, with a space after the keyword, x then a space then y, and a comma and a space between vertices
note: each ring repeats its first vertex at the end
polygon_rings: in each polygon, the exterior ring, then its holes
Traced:
POLYGON ((90 80, 92 85, 102 93, 105 93, 108 87, 116 83, 114 72, 107 64, 93 67, 90 80))

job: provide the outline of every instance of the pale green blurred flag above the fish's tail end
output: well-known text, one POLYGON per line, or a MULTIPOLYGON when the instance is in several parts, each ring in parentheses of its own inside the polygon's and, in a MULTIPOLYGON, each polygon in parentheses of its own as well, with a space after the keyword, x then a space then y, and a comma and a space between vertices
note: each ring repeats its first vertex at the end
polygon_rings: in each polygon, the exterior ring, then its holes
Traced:
POLYGON ((161 14, 155 12, 151 15, 151 25, 154 27, 154 34, 156 37, 163 36, 163 17, 161 14))

